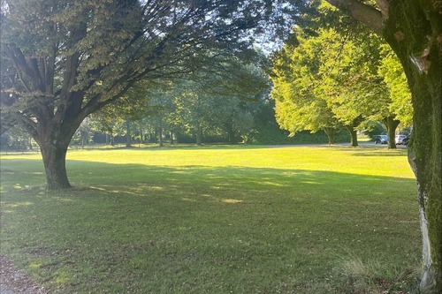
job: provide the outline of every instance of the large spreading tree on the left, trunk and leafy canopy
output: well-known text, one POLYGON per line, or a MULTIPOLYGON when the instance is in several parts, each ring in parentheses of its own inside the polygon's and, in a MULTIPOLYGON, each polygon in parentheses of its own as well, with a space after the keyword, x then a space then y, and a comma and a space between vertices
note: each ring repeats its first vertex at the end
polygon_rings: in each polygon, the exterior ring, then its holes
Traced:
MULTIPOLYGON (((65 156, 91 113, 142 79, 247 51, 271 1, 3 0, 2 132, 20 124, 41 147, 49 189, 70 187, 65 156)), ((242 57, 247 57, 244 55, 242 57)))

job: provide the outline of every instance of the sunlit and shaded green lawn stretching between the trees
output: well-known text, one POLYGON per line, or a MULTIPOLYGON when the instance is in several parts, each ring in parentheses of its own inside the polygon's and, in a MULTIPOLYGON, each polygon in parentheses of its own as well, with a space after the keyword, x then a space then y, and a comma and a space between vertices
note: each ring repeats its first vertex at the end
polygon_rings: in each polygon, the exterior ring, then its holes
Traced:
POLYGON ((1 156, 1 247, 51 293, 412 293, 406 150, 188 147, 1 156))

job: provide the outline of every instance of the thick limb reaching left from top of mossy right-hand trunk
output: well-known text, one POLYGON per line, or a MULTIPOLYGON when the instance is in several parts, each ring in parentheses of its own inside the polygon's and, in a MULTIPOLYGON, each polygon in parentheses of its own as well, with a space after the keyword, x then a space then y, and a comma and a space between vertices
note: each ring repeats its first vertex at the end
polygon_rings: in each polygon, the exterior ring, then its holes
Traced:
POLYGON ((376 34, 382 35, 384 23, 382 19, 382 12, 378 11, 373 6, 362 4, 358 0, 326 0, 329 4, 339 8, 339 10, 346 12, 352 18, 361 21, 367 25, 376 34))

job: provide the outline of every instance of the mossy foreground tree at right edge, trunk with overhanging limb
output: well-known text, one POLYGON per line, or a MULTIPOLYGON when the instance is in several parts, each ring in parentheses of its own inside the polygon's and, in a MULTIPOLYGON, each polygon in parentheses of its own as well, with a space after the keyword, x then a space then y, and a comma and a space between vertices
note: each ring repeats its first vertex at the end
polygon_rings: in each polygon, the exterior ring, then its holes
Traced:
POLYGON ((423 237, 421 293, 442 291, 442 5, 437 0, 327 0, 384 37, 402 64, 413 103, 408 146, 423 237))

